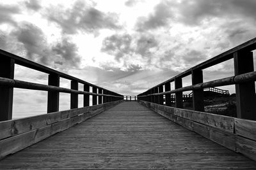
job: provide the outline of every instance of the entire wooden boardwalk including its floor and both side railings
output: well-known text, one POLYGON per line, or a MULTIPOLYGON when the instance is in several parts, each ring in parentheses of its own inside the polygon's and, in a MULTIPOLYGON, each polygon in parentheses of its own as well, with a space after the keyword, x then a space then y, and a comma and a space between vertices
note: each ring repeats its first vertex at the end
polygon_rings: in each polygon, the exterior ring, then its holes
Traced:
POLYGON ((0 169, 256 169, 252 50, 256 38, 129 97, 0 50, 0 169), (205 68, 230 59, 234 76, 203 81, 205 68), (15 80, 15 64, 48 74, 48 84, 15 80), (236 87, 236 117, 205 113, 204 89, 225 85, 236 87), (47 113, 13 119, 14 88, 47 91, 47 113), (70 110, 59 110, 60 93, 70 110))

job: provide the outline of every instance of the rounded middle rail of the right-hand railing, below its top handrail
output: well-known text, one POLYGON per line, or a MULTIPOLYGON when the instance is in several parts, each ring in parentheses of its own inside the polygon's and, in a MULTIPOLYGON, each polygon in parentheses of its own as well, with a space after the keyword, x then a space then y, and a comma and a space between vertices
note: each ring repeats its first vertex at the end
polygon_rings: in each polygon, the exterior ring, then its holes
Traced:
POLYGON ((170 90, 167 92, 161 92, 161 93, 154 93, 154 94, 148 94, 144 96, 139 97, 147 97, 147 96, 161 96, 165 94, 175 94, 177 92, 186 92, 191 90, 198 90, 198 89, 204 89, 208 87, 219 87, 223 85, 233 85, 237 83, 245 83, 249 81, 256 81, 256 71, 250 72, 250 73, 244 73, 237 76, 230 76, 228 78, 221 78, 218 80, 208 81, 205 83, 198 83, 196 85, 190 85, 187 87, 182 87, 175 90, 170 90))

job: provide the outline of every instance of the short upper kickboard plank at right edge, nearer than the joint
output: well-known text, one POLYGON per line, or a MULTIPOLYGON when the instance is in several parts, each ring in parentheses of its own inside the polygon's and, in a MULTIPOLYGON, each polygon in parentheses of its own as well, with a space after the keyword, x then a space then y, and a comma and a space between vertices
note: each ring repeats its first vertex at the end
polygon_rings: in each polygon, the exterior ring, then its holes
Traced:
POLYGON ((256 141, 256 121, 235 118, 236 134, 256 141))

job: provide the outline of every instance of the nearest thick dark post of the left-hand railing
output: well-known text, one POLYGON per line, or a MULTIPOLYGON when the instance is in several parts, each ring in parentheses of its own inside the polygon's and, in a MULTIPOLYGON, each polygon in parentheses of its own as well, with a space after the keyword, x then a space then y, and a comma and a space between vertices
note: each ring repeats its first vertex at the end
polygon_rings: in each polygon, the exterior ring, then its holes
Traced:
MULTIPOLYGON (((14 77, 14 59, 8 59, 1 56, 0 77, 13 79, 14 77)), ((12 119, 13 105, 13 87, 0 86, 0 121, 12 119)))

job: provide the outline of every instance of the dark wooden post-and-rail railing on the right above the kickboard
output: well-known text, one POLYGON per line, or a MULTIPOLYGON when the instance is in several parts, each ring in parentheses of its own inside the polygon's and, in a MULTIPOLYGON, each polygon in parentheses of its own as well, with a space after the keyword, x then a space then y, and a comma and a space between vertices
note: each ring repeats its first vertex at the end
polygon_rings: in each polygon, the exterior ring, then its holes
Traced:
POLYGON ((171 106, 171 94, 175 94, 175 107, 183 108, 182 92, 193 91, 193 110, 204 111, 204 89, 225 85, 236 85, 237 118, 256 120, 255 80, 256 72, 253 69, 253 52, 256 49, 256 38, 236 46, 227 52, 221 53, 212 59, 206 60, 195 67, 180 73, 169 80, 148 89, 138 95, 141 101, 148 101, 163 105, 163 96, 166 106, 171 106), (203 70, 207 67, 234 59, 234 76, 218 80, 203 82, 203 70), (182 78, 191 75, 192 85, 182 87, 182 78), (170 89, 174 81, 175 89, 170 89), (163 86, 165 91, 163 92, 163 86))

